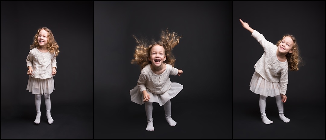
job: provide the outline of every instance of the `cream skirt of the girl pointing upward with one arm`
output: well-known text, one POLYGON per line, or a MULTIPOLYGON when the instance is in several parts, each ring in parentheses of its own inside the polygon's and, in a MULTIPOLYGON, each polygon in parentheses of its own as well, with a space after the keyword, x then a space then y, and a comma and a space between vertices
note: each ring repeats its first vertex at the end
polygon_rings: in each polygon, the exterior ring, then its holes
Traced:
POLYGON ((261 77, 260 74, 256 71, 252 75, 249 86, 252 92, 266 97, 275 97, 281 94, 280 82, 268 82, 266 79, 261 77))

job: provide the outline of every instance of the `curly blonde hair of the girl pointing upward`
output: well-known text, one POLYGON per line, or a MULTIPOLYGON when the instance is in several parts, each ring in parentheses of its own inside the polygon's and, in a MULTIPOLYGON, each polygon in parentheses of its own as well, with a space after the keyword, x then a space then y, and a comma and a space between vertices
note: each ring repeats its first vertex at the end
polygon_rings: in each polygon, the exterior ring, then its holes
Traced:
POLYGON ((295 37, 293 35, 286 34, 283 36, 281 40, 277 41, 276 46, 278 46, 285 37, 290 37, 293 41, 293 45, 292 45, 293 52, 285 55, 288 60, 289 68, 290 70, 297 71, 299 70, 299 66, 302 64, 302 58, 299 55, 299 45, 295 37))

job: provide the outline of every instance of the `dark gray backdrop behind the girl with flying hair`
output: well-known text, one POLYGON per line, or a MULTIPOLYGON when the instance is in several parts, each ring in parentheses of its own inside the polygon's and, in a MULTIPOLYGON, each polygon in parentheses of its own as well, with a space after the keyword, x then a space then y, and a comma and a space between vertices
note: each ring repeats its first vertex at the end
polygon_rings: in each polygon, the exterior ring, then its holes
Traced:
POLYGON ((95 1, 94 138, 232 138, 231 2, 95 1), (183 35, 173 49, 170 75, 184 85, 173 99, 170 127, 163 106, 153 103, 154 132, 146 131, 145 105, 130 100, 140 67, 130 64, 132 35, 156 40, 169 28, 183 35))

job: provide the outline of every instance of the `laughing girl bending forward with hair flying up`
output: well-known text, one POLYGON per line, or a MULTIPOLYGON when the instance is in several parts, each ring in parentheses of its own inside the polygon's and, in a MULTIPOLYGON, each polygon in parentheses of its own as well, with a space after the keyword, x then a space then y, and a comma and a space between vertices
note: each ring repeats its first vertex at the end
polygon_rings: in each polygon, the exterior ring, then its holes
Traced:
POLYGON ((181 75, 182 70, 174 68, 175 58, 171 50, 179 43, 182 37, 177 33, 162 31, 161 39, 153 41, 147 45, 146 40, 138 40, 138 43, 131 64, 137 63, 141 66, 141 74, 137 86, 130 90, 131 101, 143 104, 145 103, 145 112, 147 116, 147 131, 154 131, 153 126, 153 102, 163 105, 165 118, 170 126, 175 126, 171 118, 171 101, 182 89, 183 85, 171 83, 169 75, 181 75))

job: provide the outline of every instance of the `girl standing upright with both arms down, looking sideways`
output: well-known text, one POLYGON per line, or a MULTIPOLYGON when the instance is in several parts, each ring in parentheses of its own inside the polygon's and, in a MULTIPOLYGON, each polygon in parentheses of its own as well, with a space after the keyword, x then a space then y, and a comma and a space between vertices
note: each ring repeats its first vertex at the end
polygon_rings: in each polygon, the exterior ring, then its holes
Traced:
POLYGON ((45 98, 46 117, 49 124, 53 123, 50 94, 54 90, 53 76, 57 73, 56 56, 59 54, 58 48, 51 30, 42 27, 37 30, 33 44, 30 45, 31 50, 26 58, 27 75, 30 75, 26 90, 35 94, 36 119, 34 122, 36 124, 40 123, 42 95, 45 98))

